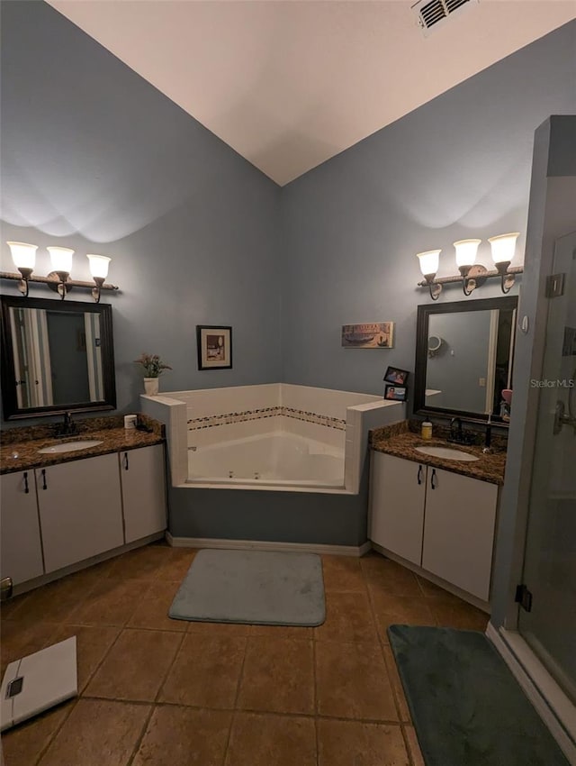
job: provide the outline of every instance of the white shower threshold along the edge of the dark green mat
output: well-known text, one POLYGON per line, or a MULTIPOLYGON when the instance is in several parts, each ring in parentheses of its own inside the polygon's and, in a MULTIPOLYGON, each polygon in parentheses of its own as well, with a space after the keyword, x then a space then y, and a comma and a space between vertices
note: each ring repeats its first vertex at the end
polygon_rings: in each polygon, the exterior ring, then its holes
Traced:
POLYGON ((536 708, 536 712, 550 730, 550 734, 553 735, 568 762, 576 763, 576 711, 571 700, 550 678, 544 666, 537 661, 519 634, 504 628, 497 630, 489 623, 486 635, 536 708), (537 683, 539 676, 546 677, 545 685, 548 690, 554 688, 554 698, 545 697, 537 683))

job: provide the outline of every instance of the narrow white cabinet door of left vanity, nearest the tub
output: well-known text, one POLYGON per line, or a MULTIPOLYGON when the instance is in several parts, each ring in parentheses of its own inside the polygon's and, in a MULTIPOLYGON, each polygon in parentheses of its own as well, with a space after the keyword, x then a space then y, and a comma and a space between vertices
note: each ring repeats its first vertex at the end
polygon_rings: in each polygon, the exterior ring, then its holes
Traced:
POLYGON ((126 543, 166 529, 164 445, 119 453, 126 543))

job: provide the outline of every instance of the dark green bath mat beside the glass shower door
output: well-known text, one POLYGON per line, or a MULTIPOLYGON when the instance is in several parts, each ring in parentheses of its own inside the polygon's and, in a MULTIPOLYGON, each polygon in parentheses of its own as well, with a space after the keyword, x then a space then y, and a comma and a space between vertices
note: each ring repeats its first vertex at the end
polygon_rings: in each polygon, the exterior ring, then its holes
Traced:
POLYGON ((426 766, 568 766, 484 634, 391 625, 388 635, 426 766))

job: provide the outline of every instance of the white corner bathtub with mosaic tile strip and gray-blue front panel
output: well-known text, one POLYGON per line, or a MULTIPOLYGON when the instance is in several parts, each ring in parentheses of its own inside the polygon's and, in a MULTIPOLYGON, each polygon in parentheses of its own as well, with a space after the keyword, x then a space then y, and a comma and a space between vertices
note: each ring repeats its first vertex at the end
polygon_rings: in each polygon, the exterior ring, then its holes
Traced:
POLYGON ((284 383, 141 399, 166 424, 174 538, 365 543, 368 431, 405 404, 284 383))

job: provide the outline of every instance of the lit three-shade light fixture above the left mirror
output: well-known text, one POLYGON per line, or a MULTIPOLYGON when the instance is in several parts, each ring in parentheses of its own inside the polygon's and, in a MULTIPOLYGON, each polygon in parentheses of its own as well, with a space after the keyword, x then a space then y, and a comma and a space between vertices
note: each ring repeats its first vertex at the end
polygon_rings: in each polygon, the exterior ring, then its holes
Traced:
POLYGON ((84 287, 92 291, 92 296, 96 303, 100 303, 100 293, 102 290, 117 290, 116 285, 104 284, 108 276, 108 266, 111 258, 105 255, 88 255, 90 263, 90 273, 94 282, 80 282, 76 279, 70 279, 72 270, 72 255, 74 251, 67 247, 48 247, 50 254, 52 270, 47 277, 32 276, 34 265, 36 263, 36 251, 38 245, 31 245, 27 242, 6 242, 12 253, 14 266, 19 274, 12 274, 8 271, 0 271, 0 279, 11 279, 18 283, 18 289, 24 297, 28 297, 28 287, 30 282, 37 282, 48 285, 51 290, 58 293, 61 300, 67 295, 72 287, 84 287))

